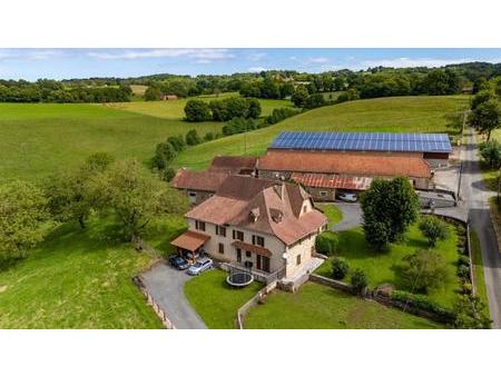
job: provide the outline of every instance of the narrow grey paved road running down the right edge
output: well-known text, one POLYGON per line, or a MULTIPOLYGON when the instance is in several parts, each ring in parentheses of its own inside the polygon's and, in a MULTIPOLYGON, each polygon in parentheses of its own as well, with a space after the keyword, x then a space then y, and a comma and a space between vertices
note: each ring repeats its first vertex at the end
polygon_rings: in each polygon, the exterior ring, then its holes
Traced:
POLYGON ((468 144, 462 152, 463 180, 462 192, 468 205, 470 222, 480 239, 484 264, 485 286, 493 327, 501 328, 501 255, 492 227, 489 210, 489 197, 493 194, 485 189, 479 166, 477 141, 471 129, 468 130, 468 144))

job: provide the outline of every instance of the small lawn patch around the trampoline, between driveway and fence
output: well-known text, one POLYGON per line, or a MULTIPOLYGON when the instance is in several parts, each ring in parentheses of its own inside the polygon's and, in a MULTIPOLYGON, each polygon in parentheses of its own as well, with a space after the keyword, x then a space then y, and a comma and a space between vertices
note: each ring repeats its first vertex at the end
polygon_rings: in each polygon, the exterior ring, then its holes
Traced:
POLYGON ((253 283, 245 288, 233 288, 226 283, 226 273, 218 269, 191 278, 185 285, 185 295, 212 329, 234 329, 238 308, 263 288, 253 283))

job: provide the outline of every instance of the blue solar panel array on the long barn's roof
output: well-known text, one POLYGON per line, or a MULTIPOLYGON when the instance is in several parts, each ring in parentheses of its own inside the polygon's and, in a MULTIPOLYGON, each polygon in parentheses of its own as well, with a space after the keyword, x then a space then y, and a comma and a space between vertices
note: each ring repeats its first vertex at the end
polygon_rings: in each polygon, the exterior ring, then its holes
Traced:
POLYGON ((444 133, 282 132, 273 149, 451 152, 444 133))

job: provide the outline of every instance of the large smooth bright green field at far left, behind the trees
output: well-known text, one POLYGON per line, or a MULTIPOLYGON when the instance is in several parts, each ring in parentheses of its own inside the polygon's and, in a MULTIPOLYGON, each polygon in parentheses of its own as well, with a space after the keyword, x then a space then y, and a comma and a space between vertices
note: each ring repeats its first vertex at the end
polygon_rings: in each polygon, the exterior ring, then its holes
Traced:
POLYGON ((188 123, 104 105, 0 103, 0 180, 37 180, 96 151, 146 161, 156 144, 191 128, 204 136, 222 123, 188 123))

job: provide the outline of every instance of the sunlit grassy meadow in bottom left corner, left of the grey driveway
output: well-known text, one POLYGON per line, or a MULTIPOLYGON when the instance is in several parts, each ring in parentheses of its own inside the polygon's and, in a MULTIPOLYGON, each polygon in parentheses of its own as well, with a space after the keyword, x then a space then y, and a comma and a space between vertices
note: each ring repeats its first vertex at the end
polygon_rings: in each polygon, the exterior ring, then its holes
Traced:
MULTIPOLYGON (((158 224, 168 244, 181 218, 158 224)), ((0 328, 161 328, 131 283, 153 258, 114 240, 110 221, 57 228, 30 256, 0 270, 0 328)))

